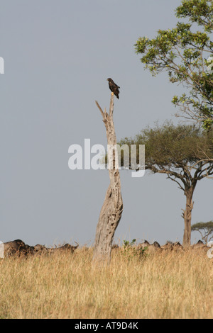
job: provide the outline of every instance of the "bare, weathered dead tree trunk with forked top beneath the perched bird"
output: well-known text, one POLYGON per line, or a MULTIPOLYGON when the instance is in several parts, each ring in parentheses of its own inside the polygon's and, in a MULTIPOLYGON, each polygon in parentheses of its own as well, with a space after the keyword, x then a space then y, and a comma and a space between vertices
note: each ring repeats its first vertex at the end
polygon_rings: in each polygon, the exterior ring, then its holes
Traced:
MULTIPOLYGON (((104 125, 107 132, 107 145, 113 148, 111 158, 111 166, 109 169, 110 184, 104 199, 101 213, 99 215, 99 222, 97 224, 93 261, 101 261, 103 263, 110 262, 111 259, 111 243, 114 237, 116 227, 121 220, 123 211, 123 201, 121 197, 121 180, 117 162, 117 149, 116 149, 116 133, 114 130, 113 111, 114 111, 114 94, 111 94, 109 113, 106 109, 104 112, 97 103, 99 111, 102 113, 104 125)), ((109 165, 109 164, 108 164, 109 165)))

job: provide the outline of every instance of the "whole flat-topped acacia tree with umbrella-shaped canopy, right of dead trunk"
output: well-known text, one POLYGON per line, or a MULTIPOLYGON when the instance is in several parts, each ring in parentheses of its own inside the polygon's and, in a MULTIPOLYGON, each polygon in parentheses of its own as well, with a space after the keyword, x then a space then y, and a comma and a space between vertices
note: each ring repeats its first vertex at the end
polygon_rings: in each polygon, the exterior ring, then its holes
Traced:
POLYGON ((197 181, 213 174, 213 130, 203 132, 192 125, 172 123, 146 128, 136 137, 119 142, 120 145, 145 145, 145 168, 153 174, 166 174, 178 184, 186 196, 182 213, 185 229, 182 244, 190 246, 193 194, 197 181))

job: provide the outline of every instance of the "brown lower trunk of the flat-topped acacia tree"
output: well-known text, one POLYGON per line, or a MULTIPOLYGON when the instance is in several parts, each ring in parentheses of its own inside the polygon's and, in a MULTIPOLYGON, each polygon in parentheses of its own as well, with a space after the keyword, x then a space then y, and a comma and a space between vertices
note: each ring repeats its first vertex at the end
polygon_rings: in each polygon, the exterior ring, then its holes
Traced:
POLYGON ((182 240, 182 246, 183 247, 190 247, 191 245, 191 222, 192 222, 192 209, 193 209, 193 201, 192 196, 194 193, 195 188, 189 188, 185 190, 185 196, 186 196, 186 206, 185 210, 183 210, 182 218, 184 219, 184 234, 183 234, 183 240, 182 240))

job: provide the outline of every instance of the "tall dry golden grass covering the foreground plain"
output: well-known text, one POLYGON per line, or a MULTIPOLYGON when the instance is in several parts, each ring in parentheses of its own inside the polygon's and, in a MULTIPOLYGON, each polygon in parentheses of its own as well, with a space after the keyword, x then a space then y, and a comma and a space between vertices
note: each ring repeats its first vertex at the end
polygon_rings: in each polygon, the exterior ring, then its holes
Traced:
POLYGON ((213 261, 199 251, 113 250, 109 267, 75 254, 0 261, 3 318, 213 318, 213 261))

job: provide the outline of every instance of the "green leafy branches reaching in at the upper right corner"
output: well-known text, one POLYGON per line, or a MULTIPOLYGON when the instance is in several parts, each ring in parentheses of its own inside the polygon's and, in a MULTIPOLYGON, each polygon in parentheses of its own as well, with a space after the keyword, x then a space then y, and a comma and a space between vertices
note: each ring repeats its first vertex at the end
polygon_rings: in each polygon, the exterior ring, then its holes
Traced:
POLYGON ((209 129, 213 126, 213 1, 182 0, 175 16, 187 18, 188 23, 158 30, 153 39, 138 38, 136 53, 143 55, 141 62, 153 76, 165 71, 170 82, 185 86, 185 93, 174 96, 173 103, 185 118, 209 129))

